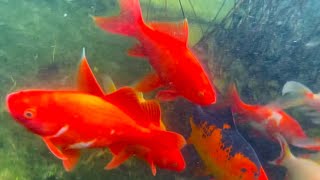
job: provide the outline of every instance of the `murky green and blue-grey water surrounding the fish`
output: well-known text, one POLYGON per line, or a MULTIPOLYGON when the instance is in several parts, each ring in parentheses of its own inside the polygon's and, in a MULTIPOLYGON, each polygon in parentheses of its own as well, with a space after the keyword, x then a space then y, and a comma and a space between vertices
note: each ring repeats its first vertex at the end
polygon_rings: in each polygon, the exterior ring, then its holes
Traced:
MULTIPOLYGON (((229 82, 236 81, 243 99, 267 103, 280 95, 286 80, 297 80, 317 92, 320 46, 315 34, 320 22, 315 20, 319 17, 317 13, 310 13, 315 9, 312 2, 292 3, 291 6, 301 5, 304 9, 287 8, 292 17, 282 19, 277 18, 280 11, 270 15, 268 5, 260 7, 258 3, 253 7, 266 10, 253 13, 254 9, 236 9, 232 14, 230 10, 239 5, 235 3, 239 2, 181 0, 180 6, 178 0, 141 0, 147 21, 181 20, 183 16, 188 19, 189 44, 195 46, 222 91, 229 82), (283 28, 282 24, 287 26, 283 28), (267 31, 268 27, 272 30, 267 31)), ((111 159, 107 150, 104 153, 85 151, 77 168, 68 173, 39 137, 15 123, 6 112, 5 96, 9 92, 74 86, 83 47, 102 84, 104 77, 110 76, 118 87, 133 85, 151 71, 146 61, 127 56, 126 51, 134 44, 134 39, 107 34, 96 27, 91 18, 91 15, 116 13, 118 3, 115 0, 0 0, 1 180, 207 178, 192 168, 183 173, 158 169, 157 176, 153 177, 148 165, 135 158, 120 168, 105 171, 103 167, 111 159)), ((184 134, 188 119, 181 115, 183 109, 177 105, 181 102, 162 104, 164 121, 168 129, 184 134)), ((319 136, 318 127, 305 123, 308 117, 295 110, 290 113, 302 119, 302 126, 311 136, 319 136)), ((253 143, 258 144, 254 148, 264 147, 263 144, 259 146, 259 142, 253 143)), ((264 157, 266 152, 257 152, 270 179, 282 177, 284 169, 270 166, 266 163, 270 157, 264 157)), ((188 162, 188 165, 194 167, 192 164, 196 163, 199 162, 188 162)))

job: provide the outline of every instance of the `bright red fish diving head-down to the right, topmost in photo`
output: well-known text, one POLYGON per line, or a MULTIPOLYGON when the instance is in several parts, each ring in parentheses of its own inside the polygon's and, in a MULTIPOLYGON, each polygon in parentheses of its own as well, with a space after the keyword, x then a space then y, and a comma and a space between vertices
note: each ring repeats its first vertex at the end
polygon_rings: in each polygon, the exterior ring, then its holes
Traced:
POLYGON ((136 89, 149 92, 163 87, 156 97, 169 101, 182 96, 199 105, 216 102, 216 92, 196 55, 188 48, 188 22, 150 22, 142 17, 139 0, 119 0, 120 15, 93 17, 103 30, 131 36, 139 43, 131 56, 144 57, 155 72, 145 76, 136 89))

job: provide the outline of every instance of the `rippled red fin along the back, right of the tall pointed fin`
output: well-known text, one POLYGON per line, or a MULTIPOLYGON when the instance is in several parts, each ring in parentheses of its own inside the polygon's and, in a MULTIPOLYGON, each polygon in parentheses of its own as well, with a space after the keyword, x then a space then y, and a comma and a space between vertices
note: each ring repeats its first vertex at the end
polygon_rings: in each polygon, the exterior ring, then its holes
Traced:
POLYGON ((151 124, 160 127, 160 105, 154 101, 140 102, 136 91, 130 87, 123 87, 106 95, 104 99, 117 106, 130 116, 137 124, 149 127, 151 124))

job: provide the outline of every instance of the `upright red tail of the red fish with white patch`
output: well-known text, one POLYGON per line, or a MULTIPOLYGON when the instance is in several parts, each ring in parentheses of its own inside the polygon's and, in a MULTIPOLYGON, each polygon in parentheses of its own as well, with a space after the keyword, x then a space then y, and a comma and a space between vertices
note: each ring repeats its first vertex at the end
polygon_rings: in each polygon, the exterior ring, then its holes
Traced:
POLYGON ((233 112, 240 113, 241 111, 250 108, 250 105, 244 103, 241 100, 236 85, 234 83, 230 85, 228 94, 231 101, 231 107, 233 112))

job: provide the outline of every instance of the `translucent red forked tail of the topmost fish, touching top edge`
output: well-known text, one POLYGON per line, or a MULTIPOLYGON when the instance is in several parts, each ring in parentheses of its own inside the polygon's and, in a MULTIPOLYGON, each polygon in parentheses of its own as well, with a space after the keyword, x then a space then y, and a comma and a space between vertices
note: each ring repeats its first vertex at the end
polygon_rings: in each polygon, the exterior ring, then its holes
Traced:
POLYGON ((144 25, 139 0, 119 0, 120 14, 113 17, 93 17, 96 24, 110 33, 135 36, 144 25))

